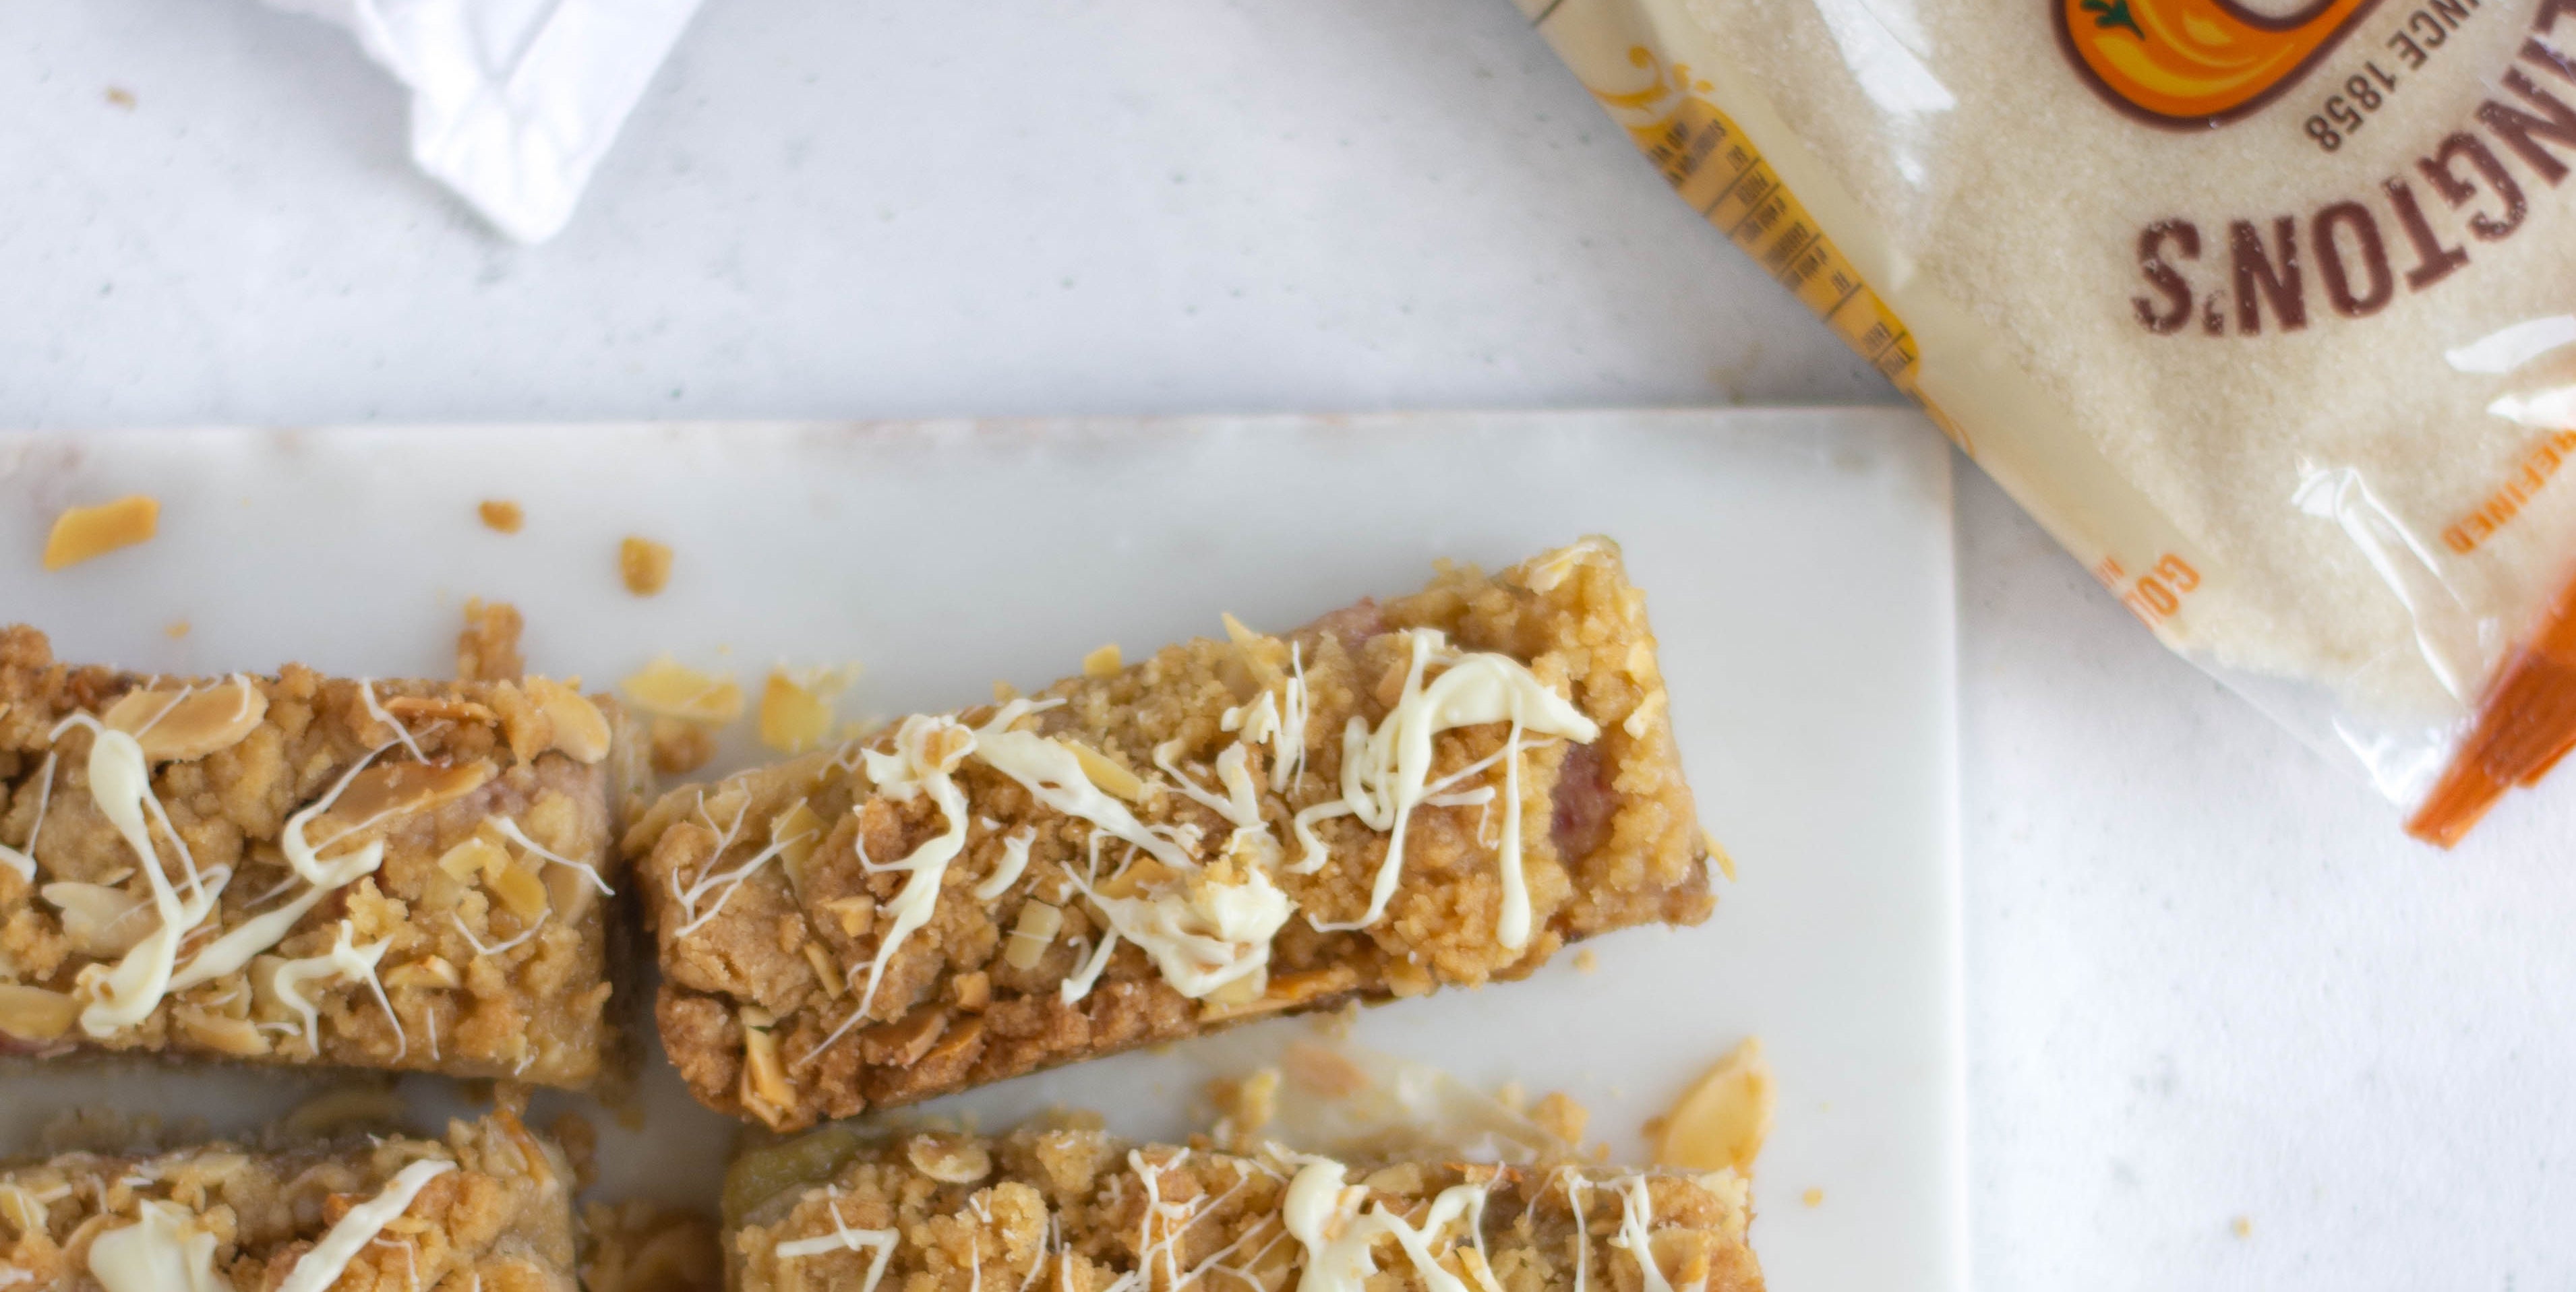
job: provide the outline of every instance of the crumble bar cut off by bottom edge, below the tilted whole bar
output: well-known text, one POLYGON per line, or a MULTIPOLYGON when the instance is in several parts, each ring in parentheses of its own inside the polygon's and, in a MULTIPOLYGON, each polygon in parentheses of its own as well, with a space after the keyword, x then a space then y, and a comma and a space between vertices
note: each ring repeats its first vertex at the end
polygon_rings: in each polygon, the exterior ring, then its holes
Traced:
POLYGON ((824 1127, 726 1179, 734 1292, 1759 1292, 1734 1171, 824 1127))

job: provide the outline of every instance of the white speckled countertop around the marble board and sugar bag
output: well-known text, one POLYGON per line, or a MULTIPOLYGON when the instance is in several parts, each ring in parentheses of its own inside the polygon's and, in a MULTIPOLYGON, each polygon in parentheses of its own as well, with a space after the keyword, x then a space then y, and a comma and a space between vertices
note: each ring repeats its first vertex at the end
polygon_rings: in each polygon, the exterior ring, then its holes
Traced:
MULTIPOLYGON (((1502 0, 719 0, 536 250, 250 0, 0 124, 10 427, 1893 399, 1502 0)), ((2416 847, 1958 507, 1976 1284, 2576 1282, 2576 790, 2416 847)))

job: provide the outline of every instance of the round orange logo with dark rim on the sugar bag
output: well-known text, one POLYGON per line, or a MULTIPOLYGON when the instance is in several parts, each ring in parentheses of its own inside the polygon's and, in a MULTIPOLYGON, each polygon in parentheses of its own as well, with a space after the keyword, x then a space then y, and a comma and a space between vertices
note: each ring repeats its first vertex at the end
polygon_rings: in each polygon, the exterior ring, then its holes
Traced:
POLYGON ((2221 126, 2298 85, 2380 0, 2267 18, 2239 0, 2056 0, 2058 39, 2115 108, 2154 126, 2221 126))

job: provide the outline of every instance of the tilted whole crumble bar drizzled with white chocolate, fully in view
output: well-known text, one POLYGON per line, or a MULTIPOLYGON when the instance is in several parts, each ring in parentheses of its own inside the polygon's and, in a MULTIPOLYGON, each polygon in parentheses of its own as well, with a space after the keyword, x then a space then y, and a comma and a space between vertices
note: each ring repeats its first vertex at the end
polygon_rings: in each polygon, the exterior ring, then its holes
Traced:
POLYGON ((1226 628, 647 811, 626 852, 698 1099, 791 1130, 1708 916, 1610 540, 1226 628))

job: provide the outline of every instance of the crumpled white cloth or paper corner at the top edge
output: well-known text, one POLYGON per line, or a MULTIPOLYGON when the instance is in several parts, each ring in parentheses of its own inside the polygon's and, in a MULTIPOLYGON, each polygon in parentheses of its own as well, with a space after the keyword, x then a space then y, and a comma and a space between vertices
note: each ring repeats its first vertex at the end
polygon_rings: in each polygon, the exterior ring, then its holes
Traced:
POLYGON ((268 0, 412 90, 412 162, 502 234, 564 229, 698 0, 268 0))

